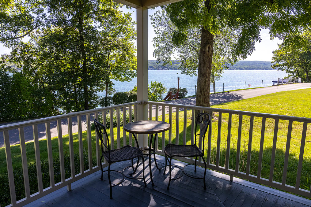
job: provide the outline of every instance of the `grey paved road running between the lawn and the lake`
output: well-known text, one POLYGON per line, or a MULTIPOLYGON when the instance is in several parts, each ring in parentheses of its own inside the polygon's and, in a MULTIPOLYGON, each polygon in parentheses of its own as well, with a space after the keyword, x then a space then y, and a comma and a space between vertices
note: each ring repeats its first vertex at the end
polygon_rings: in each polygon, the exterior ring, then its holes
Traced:
MULTIPOLYGON (((304 88, 311 88, 311 83, 295 83, 295 84, 287 84, 287 85, 280 85, 280 86, 273 86, 273 87, 266 87, 266 88, 254 88, 248 90, 240 90, 234 92, 224 92, 224 93, 216 93, 210 95, 210 103, 211 105, 216 105, 220 103, 227 103, 231 101, 238 101, 246 98, 252 98, 257 96, 266 95, 269 93, 275 93, 280 91, 289 91, 289 90, 297 90, 297 89, 304 89, 304 88)), ((174 104, 182 104, 182 105, 193 105, 195 106, 195 98, 196 97, 189 97, 183 98, 173 101, 167 101, 167 103, 174 103, 174 104)), ((168 107, 167 111, 168 112, 168 107)), ((173 109, 174 111, 174 109, 173 109)), ((159 113, 161 114, 161 108, 159 109, 159 113)), ((86 116, 82 116, 82 130, 86 130, 86 116)), ((68 134, 68 127, 67 127, 67 119, 62 120, 62 134, 68 134)), ((77 117, 72 118, 72 131, 75 133, 77 132, 77 117)), ((25 140, 31 141, 33 140, 33 132, 32 127, 25 127, 25 140)), ((38 132, 39 132, 39 139, 46 138, 45 135, 45 125, 38 124, 38 132)), ((11 144, 18 144, 19 143, 19 135, 18 130, 10 130, 10 143, 11 144)), ((57 125, 56 121, 51 122, 51 137, 57 136, 57 125)), ((0 133, 0 147, 4 146, 3 134, 0 133)))

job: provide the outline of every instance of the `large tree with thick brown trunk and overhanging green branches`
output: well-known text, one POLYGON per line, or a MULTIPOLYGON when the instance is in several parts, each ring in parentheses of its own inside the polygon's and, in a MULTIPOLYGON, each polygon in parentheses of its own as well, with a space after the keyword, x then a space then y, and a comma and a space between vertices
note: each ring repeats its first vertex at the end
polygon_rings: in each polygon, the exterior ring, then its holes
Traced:
POLYGON ((214 38, 222 28, 237 31, 234 60, 246 58, 260 41, 260 30, 270 29, 271 38, 284 38, 292 31, 309 27, 309 0, 227 1, 185 0, 163 7, 176 26, 172 41, 184 45, 187 28, 201 28, 201 42, 197 76, 197 106, 210 106, 210 80, 214 38))

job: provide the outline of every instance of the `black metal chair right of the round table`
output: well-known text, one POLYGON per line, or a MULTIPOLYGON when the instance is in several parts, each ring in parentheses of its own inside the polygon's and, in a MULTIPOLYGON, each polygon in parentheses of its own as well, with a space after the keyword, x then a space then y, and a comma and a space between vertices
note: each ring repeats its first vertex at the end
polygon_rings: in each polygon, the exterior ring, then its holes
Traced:
MULTIPOLYGON (((171 180, 176 180, 182 177, 183 174, 187 175, 188 177, 195 178, 195 179, 203 179, 204 182, 204 189, 206 189, 206 184, 205 184, 205 175, 206 175, 206 162, 204 160, 204 139, 205 139, 205 134, 207 132, 207 127, 211 121, 211 116, 206 113, 199 113, 197 115, 196 119, 196 125, 195 125, 195 137, 194 137, 194 144, 193 145, 176 145, 176 144, 167 144, 164 147, 164 154, 165 154, 165 169, 163 174, 165 175, 166 171, 166 166, 167 166, 167 161, 169 162, 169 184, 171 183, 171 180), (201 125, 200 131, 197 133, 197 126, 201 125), (202 137, 202 150, 197 147, 197 136, 202 137), (203 177, 194 177, 192 175, 189 175, 185 173, 184 168, 190 164, 187 164, 183 167, 182 171, 183 174, 178 176, 177 178, 172 179, 172 158, 173 157, 195 157, 194 161, 194 172, 197 171, 197 157, 202 157, 202 160, 204 161, 205 169, 204 169, 204 175, 203 177)), ((200 138, 200 137, 199 137, 200 138)), ((174 167, 179 168, 178 166, 173 165, 174 167)), ((181 168, 179 168, 181 169, 181 168)), ((169 184, 167 186, 167 189, 169 190, 169 184)))

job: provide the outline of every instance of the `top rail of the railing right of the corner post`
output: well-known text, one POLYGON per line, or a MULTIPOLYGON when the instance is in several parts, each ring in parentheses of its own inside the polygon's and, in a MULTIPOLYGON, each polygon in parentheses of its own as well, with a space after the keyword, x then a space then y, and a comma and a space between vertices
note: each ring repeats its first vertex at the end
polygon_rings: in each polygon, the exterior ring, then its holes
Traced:
POLYGON ((222 113, 228 113, 228 114, 240 114, 240 115, 247 115, 247 116, 264 117, 264 118, 270 118, 270 119, 282 119, 282 120, 287 120, 287 121, 299 121, 299 122, 311 123, 311 118, 305 118, 305 117, 276 115, 276 114, 239 111, 239 110, 230 110, 230 109, 218 109, 218 108, 202 107, 202 106, 190 106, 190 105, 172 104, 172 103, 156 102, 156 101, 144 101, 144 104, 154 104, 154 105, 159 105, 159 106, 172 106, 172 107, 187 108, 187 109, 193 109, 193 110, 206 110, 206 111, 212 110, 214 112, 222 112, 222 113))

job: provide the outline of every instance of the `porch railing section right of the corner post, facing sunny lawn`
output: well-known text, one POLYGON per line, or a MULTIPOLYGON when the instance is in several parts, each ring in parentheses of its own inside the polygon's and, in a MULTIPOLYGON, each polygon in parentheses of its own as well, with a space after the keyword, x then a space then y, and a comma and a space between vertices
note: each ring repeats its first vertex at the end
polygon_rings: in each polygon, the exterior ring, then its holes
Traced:
MULTIPOLYGON (((193 144, 192 120, 195 119, 195 110, 208 111, 210 115, 213 114, 213 121, 207 132, 206 143, 200 140, 200 146, 205 145, 209 169, 230 174, 231 180, 234 179, 233 176, 236 176, 311 198, 310 183, 307 183, 308 177, 303 174, 306 179, 302 179, 302 173, 310 169, 310 118, 174 105, 165 102, 148 101, 145 104, 152 108, 149 110, 149 119, 167 120, 172 126, 168 135, 164 133, 159 135, 159 142, 156 146, 158 154, 164 155, 161 146, 167 143, 193 144), (173 112, 176 112, 176 115, 173 112), (185 121, 187 119, 191 119, 188 124, 185 121), (191 123, 191 128, 189 128, 189 123, 191 123), (294 132, 299 134, 299 137, 293 137, 294 132), (191 134, 191 138, 187 136, 187 133, 191 134), (166 140, 160 140, 160 136, 165 136, 166 140), (298 145, 296 148, 299 152, 297 158, 294 159, 295 145, 298 145), (269 153, 268 160, 267 153, 269 153), (290 165, 292 160, 297 161, 295 169, 290 165), (287 175, 293 170, 296 172, 295 182, 290 184, 287 175), (302 189, 302 186, 305 189, 302 189)), ((180 158, 180 160, 191 162, 187 158, 180 158)), ((204 166, 201 160, 199 161, 201 166, 204 166)))

